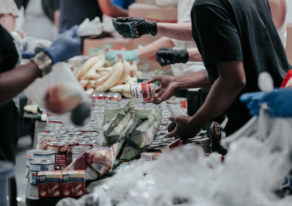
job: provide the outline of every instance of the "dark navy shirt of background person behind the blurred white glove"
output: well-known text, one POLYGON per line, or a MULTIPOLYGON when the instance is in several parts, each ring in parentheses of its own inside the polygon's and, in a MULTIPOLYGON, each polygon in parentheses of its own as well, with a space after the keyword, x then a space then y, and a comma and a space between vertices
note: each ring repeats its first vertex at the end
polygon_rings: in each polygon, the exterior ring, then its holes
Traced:
POLYGON ((81 24, 86 18, 93 20, 96 16, 102 21, 97 0, 60 0, 60 29, 70 29, 81 24))

